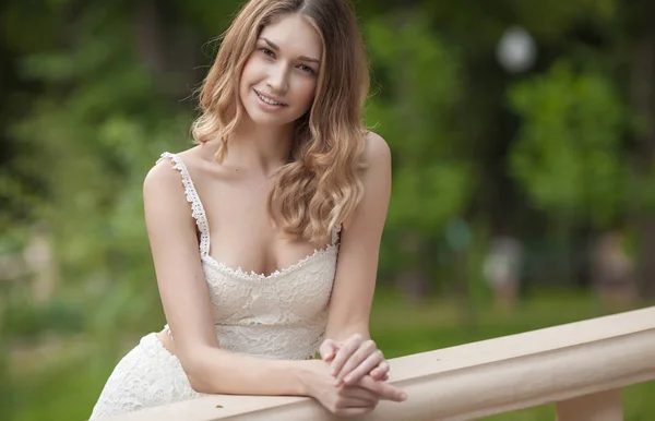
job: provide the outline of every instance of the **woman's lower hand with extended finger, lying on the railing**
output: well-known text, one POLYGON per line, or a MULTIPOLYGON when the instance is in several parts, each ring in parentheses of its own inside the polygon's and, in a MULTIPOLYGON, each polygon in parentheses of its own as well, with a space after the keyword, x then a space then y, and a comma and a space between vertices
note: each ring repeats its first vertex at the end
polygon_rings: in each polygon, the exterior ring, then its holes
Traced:
POLYGON ((378 405, 380 399, 403 401, 405 394, 397 387, 366 375, 352 386, 334 386, 330 368, 321 360, 307 361, 302 383, 306 395, 317 399, 330 412, 340 417, 364 416, 378 405))

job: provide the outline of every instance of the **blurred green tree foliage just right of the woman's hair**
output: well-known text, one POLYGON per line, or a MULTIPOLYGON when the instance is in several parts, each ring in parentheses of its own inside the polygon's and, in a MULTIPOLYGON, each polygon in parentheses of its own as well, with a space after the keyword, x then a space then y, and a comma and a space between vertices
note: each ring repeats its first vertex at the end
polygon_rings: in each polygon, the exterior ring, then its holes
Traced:
POLYGON ((388 228, 397 242, 386 253, 398 256, 398 285, 420 297, 433 275, 431 242, 465 211, 473 190, 473 166, 457 147, 460 63, 417 12, 372 20, 366 34, 378 91, 367 119, 390 142, 394 161, 388 228))

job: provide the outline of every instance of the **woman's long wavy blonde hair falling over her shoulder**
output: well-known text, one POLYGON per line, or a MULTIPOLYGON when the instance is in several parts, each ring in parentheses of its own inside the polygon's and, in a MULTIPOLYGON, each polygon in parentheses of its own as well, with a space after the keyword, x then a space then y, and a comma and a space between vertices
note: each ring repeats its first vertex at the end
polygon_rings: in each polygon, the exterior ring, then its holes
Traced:
POLYGON ((192 127, 196 143, 221 140, 217 161, 245 112, 240 75, 262 29, 276 16, 300 13, 321 37, 323 55, 315 97, 296 121, 290 160, 276 173, 269 196, 283 232, 324 243, 355 209, 364 188, 358 178, 366 130, 362 109, 369 68, 355 13, 346 0, 250 0, 227 32, 200 91, 201 116, 192 127))

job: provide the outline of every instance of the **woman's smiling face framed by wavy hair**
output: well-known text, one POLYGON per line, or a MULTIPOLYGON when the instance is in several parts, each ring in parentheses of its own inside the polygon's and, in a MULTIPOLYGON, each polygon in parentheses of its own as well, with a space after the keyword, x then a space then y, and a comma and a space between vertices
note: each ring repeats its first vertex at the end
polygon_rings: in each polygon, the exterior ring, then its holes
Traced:
POLYGON ((314 98, 319 80, 321 38, 300 14, 284 14, 257 39, 239 86, 241 104, 257 124, 296 121, 314 98))

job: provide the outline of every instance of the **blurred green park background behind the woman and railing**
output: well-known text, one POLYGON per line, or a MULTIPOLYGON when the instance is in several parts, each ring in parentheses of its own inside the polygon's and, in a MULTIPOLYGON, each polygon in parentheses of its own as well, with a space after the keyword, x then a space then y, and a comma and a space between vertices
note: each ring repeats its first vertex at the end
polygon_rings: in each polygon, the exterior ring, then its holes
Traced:
MULTIPOLYGON (((86 419, 165 323, 142 183, 191 146, 238 4, 0 5, 1 420, 86 419)), ((371 327, 388 357, 653 304, 654 0, 354 7, 367 123, 394 157, 371 327)), ((654 396, 627 388, 626 419, 655 420, 654 396)))

